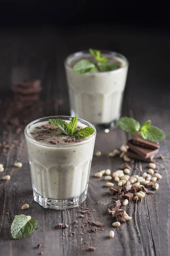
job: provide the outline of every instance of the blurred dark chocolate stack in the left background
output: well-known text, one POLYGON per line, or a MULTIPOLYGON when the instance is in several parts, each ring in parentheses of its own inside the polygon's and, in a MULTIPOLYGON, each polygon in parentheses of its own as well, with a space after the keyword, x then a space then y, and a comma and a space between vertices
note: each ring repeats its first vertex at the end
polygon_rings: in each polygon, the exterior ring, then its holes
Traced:
POLYGON ((42 90, 41 81, 37 79, 23 80, 21 84, 13 85, 11 90, 21 102, 31 102, 39 99, 42 90))

